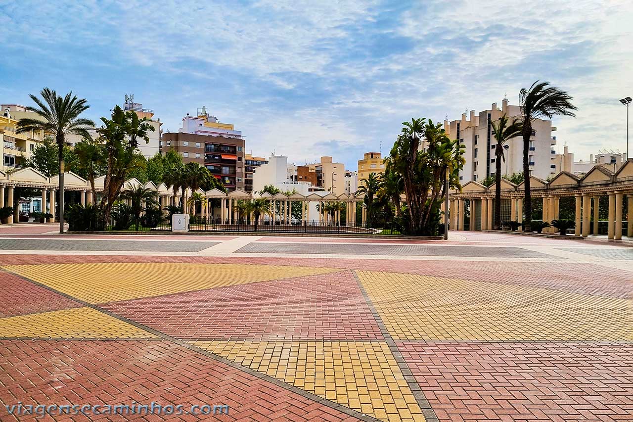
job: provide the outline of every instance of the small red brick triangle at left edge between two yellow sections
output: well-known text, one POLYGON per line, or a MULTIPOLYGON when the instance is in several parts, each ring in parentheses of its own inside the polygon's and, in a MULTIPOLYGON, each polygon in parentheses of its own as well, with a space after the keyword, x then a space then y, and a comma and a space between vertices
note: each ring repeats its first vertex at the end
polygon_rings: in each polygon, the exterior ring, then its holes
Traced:
POLYGON ((82 306, 7 272, 0 272, 0 292, 0 318, 82 306))

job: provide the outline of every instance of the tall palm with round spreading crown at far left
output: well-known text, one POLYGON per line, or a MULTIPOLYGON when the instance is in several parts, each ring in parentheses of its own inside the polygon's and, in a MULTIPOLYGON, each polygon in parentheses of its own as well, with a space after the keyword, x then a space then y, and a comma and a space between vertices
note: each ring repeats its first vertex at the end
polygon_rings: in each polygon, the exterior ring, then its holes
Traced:
POLYGON ((37 107, 27 107, 28 111, 36 113, 39 118, 21 118, 16 125, 16 133, 44 131, 55 137, 60 160, 60 233, 64 233, 64 146, 66 136, 76 134, 90 137, 88 129, 94 127, 94 122, 89 118, 79 117, 90 106, 85 98, 77 98, 72 91, 62 97, 53 89, 45 87, 40 91, 40 95, 44 101, 33 94, 28 94, 37 107))

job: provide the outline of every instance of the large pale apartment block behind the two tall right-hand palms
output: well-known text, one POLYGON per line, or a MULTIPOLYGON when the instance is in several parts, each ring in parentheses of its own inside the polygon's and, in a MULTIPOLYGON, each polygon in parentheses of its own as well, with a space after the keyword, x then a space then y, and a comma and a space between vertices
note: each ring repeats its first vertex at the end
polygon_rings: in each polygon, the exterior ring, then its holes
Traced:
MULTIPOLYGON (((486 177, 494 175, 496 170, 496 139, 492 135, 491 122, 506 115, 512 120, 513 117, 520 117, 520 106, 508 105, 508 100, 504 99, 501 109, 497 103, 492 103, 489 110, 484 110, 475 114, 470 112, 467 118, 466 113, 461 115, 461 120, 453 120, 450 123, 444 120, 444 129, 448 136, 459 139, 465 145, 466 163, 460 171, 460 182, 468 181, 481 182, 486 177)), ((551 132, 556 131, 556 127, 551 125, 551 120, 537 119, 532 125, 532 137, 530 138, 530 174, 541 179, 547 179, 556 174, 555 155, 556 151, 552 146, 556 144, 556 137, 551 132)), ((513 174, 523 171, 523 138, 517 136, 506 143, 506 161, 501 163, 503 174, 513 174)))

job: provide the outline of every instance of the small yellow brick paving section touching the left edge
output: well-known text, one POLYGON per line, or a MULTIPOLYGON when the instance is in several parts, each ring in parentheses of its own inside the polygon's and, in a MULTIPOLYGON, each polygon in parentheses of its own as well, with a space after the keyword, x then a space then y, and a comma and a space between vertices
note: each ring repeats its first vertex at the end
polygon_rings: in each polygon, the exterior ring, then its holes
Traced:
POLYGON ((0 337, 156 338, 89 307, 0 318, 0 337))

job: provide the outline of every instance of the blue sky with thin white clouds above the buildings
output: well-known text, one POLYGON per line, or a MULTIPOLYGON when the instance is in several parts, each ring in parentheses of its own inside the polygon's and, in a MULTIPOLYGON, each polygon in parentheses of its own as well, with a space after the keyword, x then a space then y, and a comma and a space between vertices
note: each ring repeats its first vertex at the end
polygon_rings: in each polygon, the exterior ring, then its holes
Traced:
POLYGON ((108 115, 125 93, 177 131, 206 106, 254 155, 356 169, 411 117, 489 108, 536 79, 569 91, 555 120, 576 159, 624 150, 630 1, 0 0, 0 103, 44 86, 108 115))

